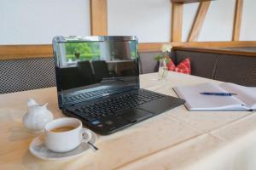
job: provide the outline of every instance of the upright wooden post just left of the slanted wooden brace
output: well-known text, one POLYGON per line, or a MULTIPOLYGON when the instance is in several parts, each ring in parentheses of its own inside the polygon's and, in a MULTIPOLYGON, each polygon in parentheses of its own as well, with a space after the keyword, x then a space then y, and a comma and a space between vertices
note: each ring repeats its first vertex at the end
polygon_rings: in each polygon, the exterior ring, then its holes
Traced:
POLYGON ((171 3, 171 6, 172 6, 171 42, 181 42, 182 29, 183 29, 183 3, 171 3))

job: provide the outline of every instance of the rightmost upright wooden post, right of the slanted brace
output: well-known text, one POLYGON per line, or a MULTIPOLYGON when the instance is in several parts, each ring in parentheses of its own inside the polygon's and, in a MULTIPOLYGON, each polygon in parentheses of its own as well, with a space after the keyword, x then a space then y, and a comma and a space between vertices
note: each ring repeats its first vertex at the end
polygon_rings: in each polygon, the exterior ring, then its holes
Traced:
POLYGON ((240 38, 242 5, 243 0, 236 0, 232 41, 239 41, 240 38))

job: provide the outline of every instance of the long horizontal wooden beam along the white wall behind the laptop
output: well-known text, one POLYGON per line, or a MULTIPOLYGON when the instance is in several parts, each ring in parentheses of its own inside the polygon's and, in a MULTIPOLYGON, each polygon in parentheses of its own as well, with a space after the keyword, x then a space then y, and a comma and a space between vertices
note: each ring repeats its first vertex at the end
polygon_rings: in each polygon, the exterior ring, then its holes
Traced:
MULTIPOLYGON (((168 42, 139 43, 139 52, 160 51, 168 42)), ((237 48, 256 47, 256 41, 242 42, 171 42, 172 47, 183 48, 237 48)), ((44 45, 0 45, 0 60, 3 59, 34 59, 53 57, 51 44, 44 45)))

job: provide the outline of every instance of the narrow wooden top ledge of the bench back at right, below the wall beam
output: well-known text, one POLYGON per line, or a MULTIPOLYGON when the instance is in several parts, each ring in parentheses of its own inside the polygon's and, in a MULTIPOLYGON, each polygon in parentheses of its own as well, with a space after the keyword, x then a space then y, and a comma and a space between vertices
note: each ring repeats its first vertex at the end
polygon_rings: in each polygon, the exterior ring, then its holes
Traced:
POLYGON ((193 51, 193 52, 206 52, 215 54, 233 54, 233 55, 245 55, 256 57, 256 52, 241 51, 237 49, 227 49, 227 48, 185 48, 185 47, 175 47, 173 50, 182 51, 193 51))

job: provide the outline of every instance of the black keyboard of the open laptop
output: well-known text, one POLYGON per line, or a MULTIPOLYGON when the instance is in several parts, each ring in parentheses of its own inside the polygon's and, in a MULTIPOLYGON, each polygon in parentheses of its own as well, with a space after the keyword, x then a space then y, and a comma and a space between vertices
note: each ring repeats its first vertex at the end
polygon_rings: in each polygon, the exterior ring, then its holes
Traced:
POLYGON ((92 122, 101 119, 103 116, 118 115, 119 112, 138 105, 143 105, 155 99, 160 99, 164 95, 149 92, 143 89, 130 94, 122 94, 111 99, 101 100, 92 105, 84 105, 74 109, 74 114, 81 116, 86 121, 92 122))

